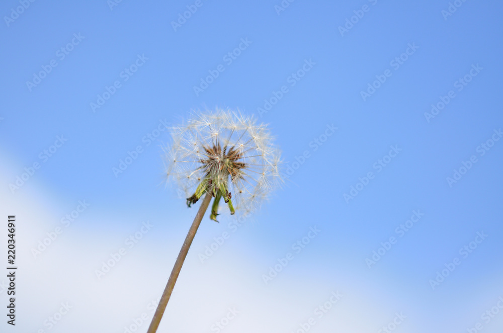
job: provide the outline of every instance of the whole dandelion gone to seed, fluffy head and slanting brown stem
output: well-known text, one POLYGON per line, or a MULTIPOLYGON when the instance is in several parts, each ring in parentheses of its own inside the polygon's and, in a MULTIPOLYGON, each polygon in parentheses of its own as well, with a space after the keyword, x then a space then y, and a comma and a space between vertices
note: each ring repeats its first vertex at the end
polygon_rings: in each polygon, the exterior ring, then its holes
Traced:
POLYGON ((185 193, 191 207, 204 195, 147 333, 157 330, 194 235, 212 198, 210 219, 217 221, 223 200, 231 215, 257 209, 281 182, 280 152, 266 125, 238 112, 195 113, 172 128, 165 149, 166 175, 185 193))

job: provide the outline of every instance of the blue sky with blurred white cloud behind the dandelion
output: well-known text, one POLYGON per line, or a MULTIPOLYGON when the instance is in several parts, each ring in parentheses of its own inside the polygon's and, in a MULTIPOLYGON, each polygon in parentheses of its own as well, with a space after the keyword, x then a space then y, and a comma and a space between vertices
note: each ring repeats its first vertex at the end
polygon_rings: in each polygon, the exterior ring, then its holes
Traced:
POLYGON ((500 331, 502 314, 487 323, 481 314, 503 296, 502 7, 461 0, 3 2, 0 155, 8 205, 2 211, 24 221, 20 266, 32 274, 24 277, 24 292, 32 293, 19 300, 18 328, 35 331, 52 311, 37 304, 57 309, 60 298, 72 295, 80 310, 52 331, 84 329, 95 295, 84 292, 90 286, 107 296, 111 311, 124 292, 105 286, 147 284, 147 291, 124 298, 137 308, 117 313, 116 322, 98 320, 103 331, 119 332, 141 304, 160 295, 196 212, 165 187, 164 124, 219 107, 268 123, 285 170, 306 151, 309 157, 237 231, 230 216, 220 224, 203 220, 172 300, 180 303, 170 304, 159 331, 211 331, 230 302, 244 309, 266 306, 267 299, 284 315, 244 311, 226 330, 253 329, 249 320, 289 332, 333 290, 347 303, 313 331, 378 331, 397 311, 407 315, 397 328, 403 331, 466 331, 477 322, 485 332, 500 331), (441 110, 432 114, 432 105, 441 110), (325 140, 330 126, 337 129, 325 140), (136 158, 114 173, 128 153, 136 158), (33 175, 13 187, 34 163, 33 175), (361 191, 348 199, 352 186, 361 191), (61 219, 79 200, 89 208, 66 229, 61 219), (396 231, 413 211, 424 215, 407 232, 396 231), (108 253, 147 220, 154 232, 138 240, 130 250, 136 253, 106 282, 98 279, 95 270, 108 253), (57 226, 65 227, 58 250, 34 258, 32 248, 57 226), (292 244, 314 226, 319 234, 295 253, 292 244), (230 237, 201 263, 198 255, 223 232, 230 237), (369 268, 366 259, 390 237, 396 242, 369 268), (475 240, 481 241, 464 258, 460 249, 475 240), (288 253, 293 260, 264 283, 288 253), (86 264, 65 275, 56 260, 65 254, 67 267, 78 265, 74 258, 86 264), (460 264, 432 287, 430 280, 456 258, 460 264), (49 269, 63 280, 79 277, 81 286, 68 280, 60 298, 41 292, 35 277, 49 269), (189 301, 191 286, 207 282, 203 273, 236 289, 201 289, 204 299, 234 297, 219 300, 221 308, 205 314, 201 327, 190 326, 205 309, 204 301, 189 301), (175 315, 183 306, 194 311, 175 315))

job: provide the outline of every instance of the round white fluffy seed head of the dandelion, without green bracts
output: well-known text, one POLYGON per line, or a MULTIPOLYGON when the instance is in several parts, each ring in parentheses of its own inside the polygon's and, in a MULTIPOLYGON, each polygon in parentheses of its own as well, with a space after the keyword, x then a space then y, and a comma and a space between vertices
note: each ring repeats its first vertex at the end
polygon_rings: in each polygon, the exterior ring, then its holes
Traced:
POLYGON ((280 151, 266 125, 254 117, 221 109, 195 112, 171 128, 171 135, 165 149, 167 179, 187 198, 209 175, 226 183, 236 212, 248 213, 282 182, 280 151))

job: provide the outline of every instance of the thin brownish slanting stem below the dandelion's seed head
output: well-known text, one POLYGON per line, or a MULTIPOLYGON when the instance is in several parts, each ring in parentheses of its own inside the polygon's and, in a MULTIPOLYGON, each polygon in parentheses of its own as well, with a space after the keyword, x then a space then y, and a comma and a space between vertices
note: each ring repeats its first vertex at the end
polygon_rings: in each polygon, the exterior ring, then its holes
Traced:
POLYGON ((177 261, 175 262, 175 267, 173 267, 170 279, 167 281, 166 288, 164 288, 164 292, 162 293, 162 296, 160 298, 159 305, 157 305, 157 309, 155 310, 152 322, 148 327, 147 333, 155 333, 157 331, 157 327, 159 327, 160 319, 162 318, 164 310, 166 309, 167 301, 170 300, 170 296, 173 292, 173 288, 175 288, 175 283, 177 282, 178 275, 182 270, 182 265, 184 264, 185 257, 187 257, 187 253, 189 252, 192 240, 196 235, 197 228, 199 228, 199 224, 201 224, 201 220, 203 219, 204 213, 206 212, 210 201, 211 194, 206 193, 206 196, 204 197, 204 200, 199 207, 196 217, 194 218, 194 222, 192 222, 192 226, 189 229, 189 233, 187 234, 187 237, 185 237, 184 244, 182 245, 182 249, 180 250, 177 261))

